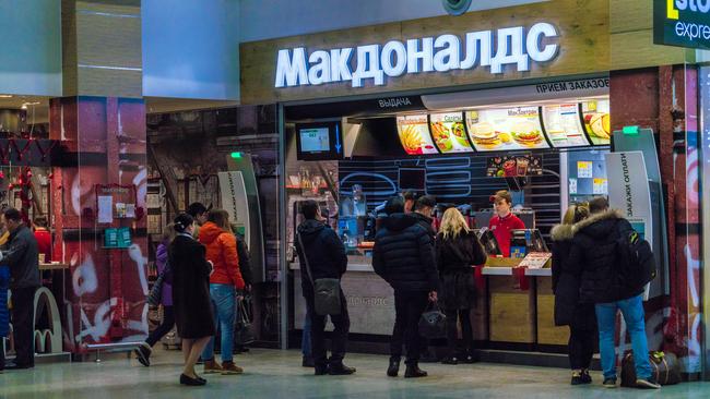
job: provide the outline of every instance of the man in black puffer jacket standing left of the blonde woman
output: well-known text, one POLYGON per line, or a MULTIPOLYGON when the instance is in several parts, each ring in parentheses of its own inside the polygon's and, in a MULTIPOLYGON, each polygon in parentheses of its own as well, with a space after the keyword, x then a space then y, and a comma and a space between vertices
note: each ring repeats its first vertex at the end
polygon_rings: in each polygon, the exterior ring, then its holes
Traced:
MULTIPOLYGON (((372 267, 394 289, 395 326, 404 326, 406 347, 405 377, 424 377, 419 370, 422 337, 418 323, 427 302, 436 301, 439 278, 434 261, 434 245, 417 219, 404 214, 400 197, 388 201, 388 217, 375 237, 372 267)), ((393 336, 397 336, 397 330, 393 336)), ((387 374, 397 376, 402 346, 392 340, 387 374)))

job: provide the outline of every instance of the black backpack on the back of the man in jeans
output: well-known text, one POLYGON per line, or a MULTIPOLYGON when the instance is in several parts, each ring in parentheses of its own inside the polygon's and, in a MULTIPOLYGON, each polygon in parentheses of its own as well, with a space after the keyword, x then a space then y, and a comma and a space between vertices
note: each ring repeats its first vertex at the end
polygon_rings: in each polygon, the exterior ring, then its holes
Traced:
POLYGON ((655 278, 655 257, 651 244, 636 230, 622 229, 616 240, 616 250, 619 277, 629 290, 641 290, 655 278))

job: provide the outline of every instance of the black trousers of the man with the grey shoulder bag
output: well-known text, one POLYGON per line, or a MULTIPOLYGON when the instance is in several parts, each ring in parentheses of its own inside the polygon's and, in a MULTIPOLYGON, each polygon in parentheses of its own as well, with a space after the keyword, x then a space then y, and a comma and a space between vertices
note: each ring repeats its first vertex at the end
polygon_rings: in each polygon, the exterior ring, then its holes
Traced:
POLYGON ((306 306, 310 314, 311 355, 313 356, 316 367, 324 367, 329 363, 342 363, 347 350, 347 332, 350 331, 350 315, 347 314, 347 300, 345 299, 345 294, 342 290, 340 291, 340 314, 329 316, 335 327, 331 335, 330 360, 328 359, 328 350, 326 349, 326 316, 316 314, 312 291, 308 292, 308 290, 304 290, 304 298, 306 299, 306 306))

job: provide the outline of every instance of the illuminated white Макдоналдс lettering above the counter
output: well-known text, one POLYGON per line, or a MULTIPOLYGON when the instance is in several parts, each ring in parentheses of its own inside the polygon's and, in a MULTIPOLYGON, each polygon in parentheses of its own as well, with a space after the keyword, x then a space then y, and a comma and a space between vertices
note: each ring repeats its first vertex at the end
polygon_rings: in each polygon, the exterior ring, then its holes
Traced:
MULTIPOLYGON (((710 1, 710 0, 708 0, 710 1)), ((352 82, 363 87, 366 81, 384 85, 386 76, 398 77, 421 72, 447 72, 488 66, 504 73, 505 65, 530 71, 531 62, 553 60, 559 50, 559 34, 548 23, 455 35, 391 40, 381 45, 317 50, 305 47, 279 50, 275 87, 322 85, 352 82), (353 66, 356 66, 353 70, 353 66)))

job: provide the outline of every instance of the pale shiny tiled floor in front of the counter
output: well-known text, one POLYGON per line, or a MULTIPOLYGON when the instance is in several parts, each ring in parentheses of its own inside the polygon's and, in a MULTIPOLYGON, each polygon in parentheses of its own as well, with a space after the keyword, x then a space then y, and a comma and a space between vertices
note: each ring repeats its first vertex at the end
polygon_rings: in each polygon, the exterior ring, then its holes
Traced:
POLYGON ((157 351, 145 368, 134 360, 44 364, 0 375, 0 398, 709 398, 710 383, 686 383, 660 391, 604 389, 599 374, 591 386, 571 387, 566 370, 478 363, 423 364, 429 377, 417 380, 384 375, 387 358, 350 354, 353 376, 312 376, 297 351, 252 350, 235 360, 239 376, 206 376, 205 387, 177 384, 181 355, 157 351))

